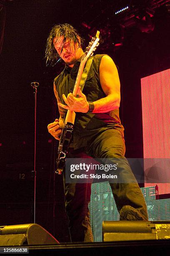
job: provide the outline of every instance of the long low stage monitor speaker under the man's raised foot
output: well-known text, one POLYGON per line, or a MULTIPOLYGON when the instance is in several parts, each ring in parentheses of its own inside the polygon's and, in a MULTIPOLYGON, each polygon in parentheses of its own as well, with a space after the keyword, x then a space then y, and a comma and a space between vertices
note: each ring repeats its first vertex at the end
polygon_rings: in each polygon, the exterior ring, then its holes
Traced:
POLYGON ((103 221, 102 238, 104 242, 170 239, 170 221, 103 221))

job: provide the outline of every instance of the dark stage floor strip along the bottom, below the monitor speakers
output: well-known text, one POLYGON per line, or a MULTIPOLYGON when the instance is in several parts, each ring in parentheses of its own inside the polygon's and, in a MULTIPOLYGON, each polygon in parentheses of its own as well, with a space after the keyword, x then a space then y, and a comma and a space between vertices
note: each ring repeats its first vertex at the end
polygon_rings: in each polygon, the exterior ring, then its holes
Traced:
MULTIPOLYGON (((140 255, 168 256, 170 240, 104 242, 104 243, 60 243, 57 245, 22 246, 31 255, 140 255)), ((13 247, 10 247, 13 248, 13 247)), ((20 248, 15 246, 15 248, 20 248)), ((2 251, 2 247, 1 247, 2 251)))

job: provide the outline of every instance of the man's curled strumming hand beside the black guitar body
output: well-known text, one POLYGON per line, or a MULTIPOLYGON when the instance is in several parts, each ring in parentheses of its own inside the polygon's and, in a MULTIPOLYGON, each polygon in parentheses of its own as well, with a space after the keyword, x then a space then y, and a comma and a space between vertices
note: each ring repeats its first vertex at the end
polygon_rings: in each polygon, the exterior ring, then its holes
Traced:
POLYGON ((62 132, 62 127, 63 127, 63 121, 60 119, 55 119, 53 123, 50 123, 47 128, 48 132, 56 139, 60 140, 60 135, 62 132))

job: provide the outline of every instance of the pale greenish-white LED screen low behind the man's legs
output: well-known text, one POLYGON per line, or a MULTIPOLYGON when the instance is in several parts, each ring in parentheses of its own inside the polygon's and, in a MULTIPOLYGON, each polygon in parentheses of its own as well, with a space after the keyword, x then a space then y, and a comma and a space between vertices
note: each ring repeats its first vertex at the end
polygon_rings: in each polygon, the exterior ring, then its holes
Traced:
MULTIPOLYGON (((147 205, 148 220, 170 220, 170 198, 156 200, 155 187, 142 187, 141 191, 147 205)), ((89 210, 94 242, 102 242, 102 222, 120 220, 108 182, 92 184, 89 210)))

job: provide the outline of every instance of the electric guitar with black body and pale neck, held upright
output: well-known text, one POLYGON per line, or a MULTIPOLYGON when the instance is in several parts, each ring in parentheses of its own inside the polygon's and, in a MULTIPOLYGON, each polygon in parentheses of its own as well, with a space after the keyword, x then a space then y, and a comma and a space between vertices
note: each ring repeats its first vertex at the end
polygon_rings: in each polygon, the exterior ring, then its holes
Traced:
MULTIPOLYGON (((82 60, 80 62, 80 67, 77 73, 76 81, 74 90, 72 92, 73 96, 76 97, 77 90, 80 84, 81 76, 83 73, 83 69, 85 67, 85 63, 88 59, 88 57, 95 51, 96 47, 99 45, 99 31, 97 31, 96 36, 92 38, 90 41, 88 47, 86 48, 85 53, 82 56, 82 60)), ((60 136, 59 146, 58 146, 58 157, 56 160, 57 163, 57 170, 55 171, 57 174, 62 174, 64 165, 65 165, 65 159, 68 152, 68 147, 70 145, 70 141, 72 138, 72 132, 74 128, 74 122, 75 122, 75 112, 71 110, 67 110, 67 114, 64 121, 64 126, 62 128, 62 133, 60 136)))

